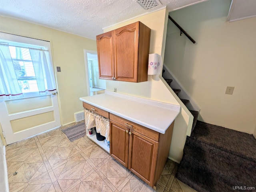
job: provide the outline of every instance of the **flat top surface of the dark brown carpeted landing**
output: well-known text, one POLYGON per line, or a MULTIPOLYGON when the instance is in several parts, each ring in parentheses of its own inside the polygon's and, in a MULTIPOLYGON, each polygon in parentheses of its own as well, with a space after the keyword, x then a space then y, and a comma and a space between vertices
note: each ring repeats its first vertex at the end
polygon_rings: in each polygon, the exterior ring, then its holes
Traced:
POLYGON ((251 134, 198 121, 191 137, 256 163, 256 139, 251 134))

